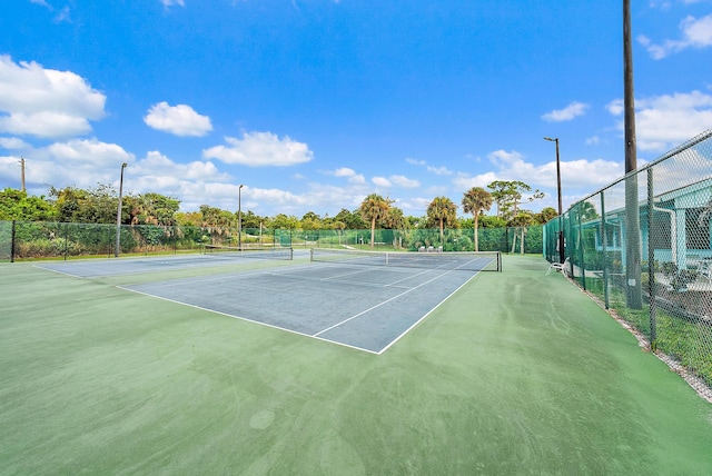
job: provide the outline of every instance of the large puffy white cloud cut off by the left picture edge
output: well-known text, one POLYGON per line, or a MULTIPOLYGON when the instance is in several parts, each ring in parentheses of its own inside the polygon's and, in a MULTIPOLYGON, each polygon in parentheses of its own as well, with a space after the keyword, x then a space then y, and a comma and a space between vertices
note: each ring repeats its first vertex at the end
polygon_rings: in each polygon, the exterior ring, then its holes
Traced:
POLYGON ((0 132, 67 137, 91 131, 105 116, 106 96, 70 71, 16 63, 0 56, 0 132))

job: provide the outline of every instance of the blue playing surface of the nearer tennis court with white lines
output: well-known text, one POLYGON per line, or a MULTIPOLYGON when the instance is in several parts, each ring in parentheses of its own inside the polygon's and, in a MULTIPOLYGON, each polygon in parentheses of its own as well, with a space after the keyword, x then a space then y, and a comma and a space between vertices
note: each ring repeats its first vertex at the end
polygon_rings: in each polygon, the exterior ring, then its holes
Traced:
POLYGON ((122 288, 380 354, 475 275, 310 262, 122 288))

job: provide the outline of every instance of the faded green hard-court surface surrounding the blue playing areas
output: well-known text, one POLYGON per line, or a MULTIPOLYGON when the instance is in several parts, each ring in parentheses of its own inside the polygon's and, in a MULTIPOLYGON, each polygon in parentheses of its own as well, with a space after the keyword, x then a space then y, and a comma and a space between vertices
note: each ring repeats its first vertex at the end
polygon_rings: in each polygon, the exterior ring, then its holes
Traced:
POLYGON ((0 474, 712 474, 712 405, 541 257, 382 355, 118 287, 240 266, 0 265, 0 474))

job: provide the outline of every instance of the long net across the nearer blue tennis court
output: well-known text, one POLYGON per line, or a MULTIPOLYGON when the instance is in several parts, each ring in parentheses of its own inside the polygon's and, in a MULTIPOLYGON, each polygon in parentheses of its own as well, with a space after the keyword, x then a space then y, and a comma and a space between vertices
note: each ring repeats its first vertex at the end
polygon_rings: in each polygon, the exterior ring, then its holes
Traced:
POLYGON ((339 265, 502 271, 502 254, 500 251, 413 252, 312 248, 310 259, 312 261, 339 265))

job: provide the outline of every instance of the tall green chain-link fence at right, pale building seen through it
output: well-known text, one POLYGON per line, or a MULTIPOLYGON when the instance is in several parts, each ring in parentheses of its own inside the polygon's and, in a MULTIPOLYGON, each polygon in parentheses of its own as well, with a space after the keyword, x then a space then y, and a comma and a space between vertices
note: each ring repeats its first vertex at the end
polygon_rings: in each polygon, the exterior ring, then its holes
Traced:
POLYGON ((712 130, 574 204, 544 256, 712 387, 712 130))

